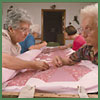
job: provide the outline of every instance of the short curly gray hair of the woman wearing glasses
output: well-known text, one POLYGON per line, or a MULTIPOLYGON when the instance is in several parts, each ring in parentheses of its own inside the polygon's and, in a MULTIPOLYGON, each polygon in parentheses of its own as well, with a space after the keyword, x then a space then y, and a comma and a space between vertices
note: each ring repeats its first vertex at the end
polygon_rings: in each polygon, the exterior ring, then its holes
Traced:
POLYGON ((23 9, 12 8, 7 12, 7 16, 4 23, 4 29, 8 30, 8 27, 18 28, 18 24, 23 21, 32 24, 31 17, 23 9))

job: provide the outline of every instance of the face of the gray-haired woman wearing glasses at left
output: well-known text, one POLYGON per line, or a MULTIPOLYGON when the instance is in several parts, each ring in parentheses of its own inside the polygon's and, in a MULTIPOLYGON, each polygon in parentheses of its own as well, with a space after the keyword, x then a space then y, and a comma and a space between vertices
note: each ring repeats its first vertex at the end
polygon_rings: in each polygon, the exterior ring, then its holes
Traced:
POLYGON ((13 43, 24 41, 26 36, 29 34, 30 24, 26 22, 21 22, 19 28, 13 29, 11 39, 13 43))

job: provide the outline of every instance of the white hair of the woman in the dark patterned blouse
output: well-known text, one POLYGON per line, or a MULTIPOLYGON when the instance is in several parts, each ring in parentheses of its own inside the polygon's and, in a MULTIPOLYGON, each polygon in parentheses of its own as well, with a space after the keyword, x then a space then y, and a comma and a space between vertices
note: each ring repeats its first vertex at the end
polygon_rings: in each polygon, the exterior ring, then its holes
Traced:
POLYGON ((81 9, 80 20, 82 21, 86 17, 93 17, 94 21, 96 22, 98 26, 98 3, 88 5, 84 7, 83 9, 81 9))

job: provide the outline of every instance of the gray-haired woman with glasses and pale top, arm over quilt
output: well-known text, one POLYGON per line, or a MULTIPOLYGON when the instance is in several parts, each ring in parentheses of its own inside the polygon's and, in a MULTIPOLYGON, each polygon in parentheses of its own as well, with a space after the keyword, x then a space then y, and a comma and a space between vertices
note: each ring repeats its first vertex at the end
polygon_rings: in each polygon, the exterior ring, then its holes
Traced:
POLYGON ((24 61, 16 58, 21 47, 18 42, 24 41, 29 33, 31 20, 26 11, 10 9, 7 12, 4 30, 2 30, 2 67, 8 69, 46 70, 48 64, 41 61, 24 61))

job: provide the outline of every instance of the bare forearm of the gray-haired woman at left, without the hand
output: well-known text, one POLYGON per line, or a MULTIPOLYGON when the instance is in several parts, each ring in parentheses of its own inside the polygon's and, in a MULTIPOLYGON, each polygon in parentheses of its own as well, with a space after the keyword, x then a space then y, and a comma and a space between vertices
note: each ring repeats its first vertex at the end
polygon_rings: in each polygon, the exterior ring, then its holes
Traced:
POLYGON ((31 68, 32 66, 33 62, 24 61, 8 54, 2 54, 2 67, 13 70, 20 70, 31 68))

